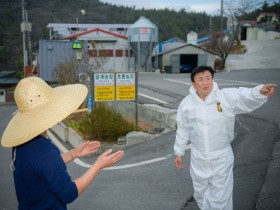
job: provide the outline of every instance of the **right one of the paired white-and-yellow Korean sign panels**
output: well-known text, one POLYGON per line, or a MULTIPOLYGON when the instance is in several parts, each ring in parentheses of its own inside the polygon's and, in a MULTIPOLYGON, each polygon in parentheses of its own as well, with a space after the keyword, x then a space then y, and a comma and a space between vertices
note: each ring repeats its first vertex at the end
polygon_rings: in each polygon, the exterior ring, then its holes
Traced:
POLYGON ((135 100, 135 73, 116 73, 116 100, 135 100))

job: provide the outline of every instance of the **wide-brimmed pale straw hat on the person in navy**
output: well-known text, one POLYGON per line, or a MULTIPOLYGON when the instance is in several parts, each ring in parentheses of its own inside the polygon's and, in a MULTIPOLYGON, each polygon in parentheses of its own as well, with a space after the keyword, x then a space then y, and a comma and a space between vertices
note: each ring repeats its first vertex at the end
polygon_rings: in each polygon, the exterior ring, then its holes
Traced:
POLYGON ((14 92, 18 111, 3 133, 2 145, 15 147, 32 140, 74 112, 87 93, 82 84, 52 88, 38 77, 22 79, 14 92))

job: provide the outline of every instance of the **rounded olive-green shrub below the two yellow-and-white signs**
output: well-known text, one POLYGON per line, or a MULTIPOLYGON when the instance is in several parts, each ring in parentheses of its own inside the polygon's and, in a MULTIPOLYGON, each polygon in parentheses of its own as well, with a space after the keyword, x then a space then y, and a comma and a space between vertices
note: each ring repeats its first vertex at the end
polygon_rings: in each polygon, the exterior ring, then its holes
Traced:
POLYGON ((117 142, 119 137, 135 130, 133 123, 104 103, 98 103, 91 113, 84 114, 76 128, 88 139, 107 142, 117 142))

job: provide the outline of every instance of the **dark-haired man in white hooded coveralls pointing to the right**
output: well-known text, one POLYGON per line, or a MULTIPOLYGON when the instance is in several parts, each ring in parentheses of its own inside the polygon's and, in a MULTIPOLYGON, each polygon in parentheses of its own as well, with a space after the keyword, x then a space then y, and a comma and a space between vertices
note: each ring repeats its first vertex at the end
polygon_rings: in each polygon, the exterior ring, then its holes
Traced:
POLYGON ((276 85, 220 90, 213 77, 209 66, 199 66, 191 73, 190 94, 177 111, 175 165, 183 167, 182 156, 191 143, 190 174, 197 205, 203 210, 232 210, 234 157, 230 143, 235 115, 263 105, 276 85))

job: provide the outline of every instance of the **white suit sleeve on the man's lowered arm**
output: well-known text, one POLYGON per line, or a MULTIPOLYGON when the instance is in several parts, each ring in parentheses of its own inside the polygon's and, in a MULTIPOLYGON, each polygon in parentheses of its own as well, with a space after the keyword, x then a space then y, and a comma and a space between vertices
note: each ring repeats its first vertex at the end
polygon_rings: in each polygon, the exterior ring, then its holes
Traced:
POLYGON ((189 129, 184 119, 182 104, 179 106, 176 117, 177 131, 174 144, 174 152, 177 156, 184 156, 187 144, 189 143, 189 129))

